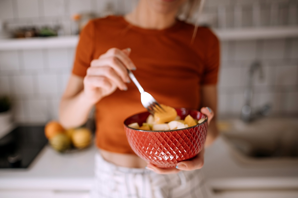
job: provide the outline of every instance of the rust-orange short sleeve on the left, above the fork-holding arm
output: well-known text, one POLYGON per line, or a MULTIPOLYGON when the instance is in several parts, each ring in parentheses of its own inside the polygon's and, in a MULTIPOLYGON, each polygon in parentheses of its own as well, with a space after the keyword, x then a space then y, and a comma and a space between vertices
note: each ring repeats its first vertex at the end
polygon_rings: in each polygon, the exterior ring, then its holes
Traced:
POLYGON ((84 77, 94 54, 94 23, 89 21, 80 33, 72 73, 84 77))

